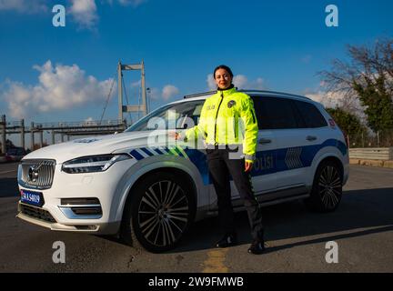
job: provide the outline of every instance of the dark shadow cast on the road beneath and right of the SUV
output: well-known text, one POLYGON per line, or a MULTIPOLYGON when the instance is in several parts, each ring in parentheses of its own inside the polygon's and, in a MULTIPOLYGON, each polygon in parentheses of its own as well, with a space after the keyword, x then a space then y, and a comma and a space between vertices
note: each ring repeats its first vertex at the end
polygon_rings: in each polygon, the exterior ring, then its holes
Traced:
MULTIPOLYGON (((345 191, 341 205, 334 213, 311 213, 301 201, 262 208, 266 227, 267 252, 305 246, 393 230, 393 188, 345 191), (364 229, 372 227, 373 229, 364 229), (378 227, 378 228, 377 228, 378 227), (349 232, 338 234, 339 232, 349 232), (330 236, 329 236, 330 234, 330 236), (307 236, 323 236, 302 239, 307 236), (279 244, 279 240, 297 242, 279 244), (275 245, 269 244, 275 241, 275 245)), ((250 230, 246 212, 236 214, 239 244, 249 244, 250 230)), ((171 253, 214 248, 223 235, 217 218, 197 222, 190 228, 180 246, 171 253)))

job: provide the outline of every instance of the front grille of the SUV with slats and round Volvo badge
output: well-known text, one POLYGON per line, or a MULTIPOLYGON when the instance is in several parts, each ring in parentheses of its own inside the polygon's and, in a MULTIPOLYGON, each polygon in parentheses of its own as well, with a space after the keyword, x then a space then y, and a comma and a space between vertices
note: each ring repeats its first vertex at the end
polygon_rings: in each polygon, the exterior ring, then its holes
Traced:
POLYGON ((23 160, 21 180, 25 186, 48 189, 55 174, 55 160, 23 160))

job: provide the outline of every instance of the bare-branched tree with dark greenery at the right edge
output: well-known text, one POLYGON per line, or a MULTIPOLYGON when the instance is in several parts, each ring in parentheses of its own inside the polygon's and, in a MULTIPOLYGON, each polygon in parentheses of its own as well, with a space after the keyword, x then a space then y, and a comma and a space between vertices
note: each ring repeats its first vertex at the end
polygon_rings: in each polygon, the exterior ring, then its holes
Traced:
POLYGON ((349 104, 358 98, 368 126, 385 136, 393 132, 393 39, 373 47, 348 45, 349 62, 335 59, 323 71, 329 92, 341 93, 349 104))

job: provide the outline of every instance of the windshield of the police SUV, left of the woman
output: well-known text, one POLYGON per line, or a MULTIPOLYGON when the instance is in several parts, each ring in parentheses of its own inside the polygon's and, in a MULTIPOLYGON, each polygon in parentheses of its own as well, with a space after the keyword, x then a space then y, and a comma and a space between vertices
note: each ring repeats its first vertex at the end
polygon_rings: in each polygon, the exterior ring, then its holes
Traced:
POLYGON ((197 125, 204 103, 205 100, 197 100, 160 107, 128 127, 126 132, 191 128, 197 125))

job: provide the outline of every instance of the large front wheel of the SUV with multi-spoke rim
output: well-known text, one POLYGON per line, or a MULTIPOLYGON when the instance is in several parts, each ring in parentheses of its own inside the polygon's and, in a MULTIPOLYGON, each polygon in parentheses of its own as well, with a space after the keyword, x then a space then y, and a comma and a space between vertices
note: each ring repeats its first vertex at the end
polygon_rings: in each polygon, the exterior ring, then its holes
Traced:
POLYGON ((173 249, 194 221, 194 191, 187 179, 158 172, 141 180, 127 197, 121 236, 153 253, 173 249))

